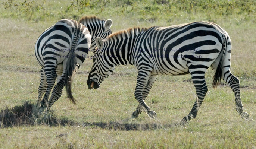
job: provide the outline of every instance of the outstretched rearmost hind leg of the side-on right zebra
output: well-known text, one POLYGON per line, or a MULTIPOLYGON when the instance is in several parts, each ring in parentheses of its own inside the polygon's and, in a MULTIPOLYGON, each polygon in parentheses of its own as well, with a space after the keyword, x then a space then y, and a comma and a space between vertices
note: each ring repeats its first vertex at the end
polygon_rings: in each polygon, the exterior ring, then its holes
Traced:
POLYGON ((224 73, 224 79, 223 79, 232 89, 232 91, 235 94, 235 110, 241 115, 241 117, 248 118, 249 114, 247 112, 244 112, 244 107, 241 101, 240 97, 240 82, 239 79, 234 76, 230 70, 227 70, 224 73))

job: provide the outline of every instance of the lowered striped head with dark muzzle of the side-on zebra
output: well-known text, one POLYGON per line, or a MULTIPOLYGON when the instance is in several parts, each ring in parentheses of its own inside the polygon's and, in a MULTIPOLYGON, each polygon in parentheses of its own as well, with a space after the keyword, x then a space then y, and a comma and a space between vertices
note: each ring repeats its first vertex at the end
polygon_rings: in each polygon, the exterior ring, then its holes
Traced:
POLYGON ((98 50, 94 52, 93 66, 87 80, 88 89, 99 88, 100 83, 113 73, 116 66, 107 57, 107 48, 100 37, 96 38, 96 45, 98 50))

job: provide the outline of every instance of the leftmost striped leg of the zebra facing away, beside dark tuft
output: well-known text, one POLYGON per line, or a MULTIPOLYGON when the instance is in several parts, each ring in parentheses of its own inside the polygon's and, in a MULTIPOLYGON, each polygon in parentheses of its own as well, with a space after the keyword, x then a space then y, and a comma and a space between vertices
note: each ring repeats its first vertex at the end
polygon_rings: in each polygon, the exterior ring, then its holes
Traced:
POLYGON ((41 76, 40 76, 40 85, 38 87, 38 99, 37 99, 37 106, 40 105, 42 97, 46 92, 47 82, 46 82, 46 75, 44 73, 44 69, 41 69, 41 76))

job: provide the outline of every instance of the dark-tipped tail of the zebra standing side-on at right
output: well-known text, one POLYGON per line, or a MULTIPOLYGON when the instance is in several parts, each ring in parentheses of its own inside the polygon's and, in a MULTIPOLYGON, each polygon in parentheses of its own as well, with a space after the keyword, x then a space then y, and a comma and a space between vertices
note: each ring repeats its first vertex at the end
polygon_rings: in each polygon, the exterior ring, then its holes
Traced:
POLYGON ((213 76, 213 82, 212 82, 212 86, 213 88, 217 88, 217 86, 221 83, 221 77, 222 77, 222 68, 223 68, 223 62, 224 62, 224 51, 225 51, 225 47, 227 47, 227 38, 224 34, 222 34, 223 36, 223 45, 222 45, 222 49, 221 49, 221 58, 219 60, 219 64, 218 67, 216 69, 216 72, 213 76))

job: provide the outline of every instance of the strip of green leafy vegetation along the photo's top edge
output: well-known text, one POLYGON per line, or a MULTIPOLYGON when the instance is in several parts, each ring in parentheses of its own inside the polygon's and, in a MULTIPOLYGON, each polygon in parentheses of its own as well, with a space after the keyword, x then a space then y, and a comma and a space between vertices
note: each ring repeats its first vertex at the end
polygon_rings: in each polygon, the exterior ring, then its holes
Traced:
POLYGON ((256 11, 254 0, 72 0, 59 3, 50 0, 6 0, 1 4, 5 9, 5 13, 1 14, 3 17, 34 21, 78 19, 79 16, 88 14, 132 16, 150 22, 181 15, 190 19, 194 15, 208 20, 237 15, 252 19, 256 11))

